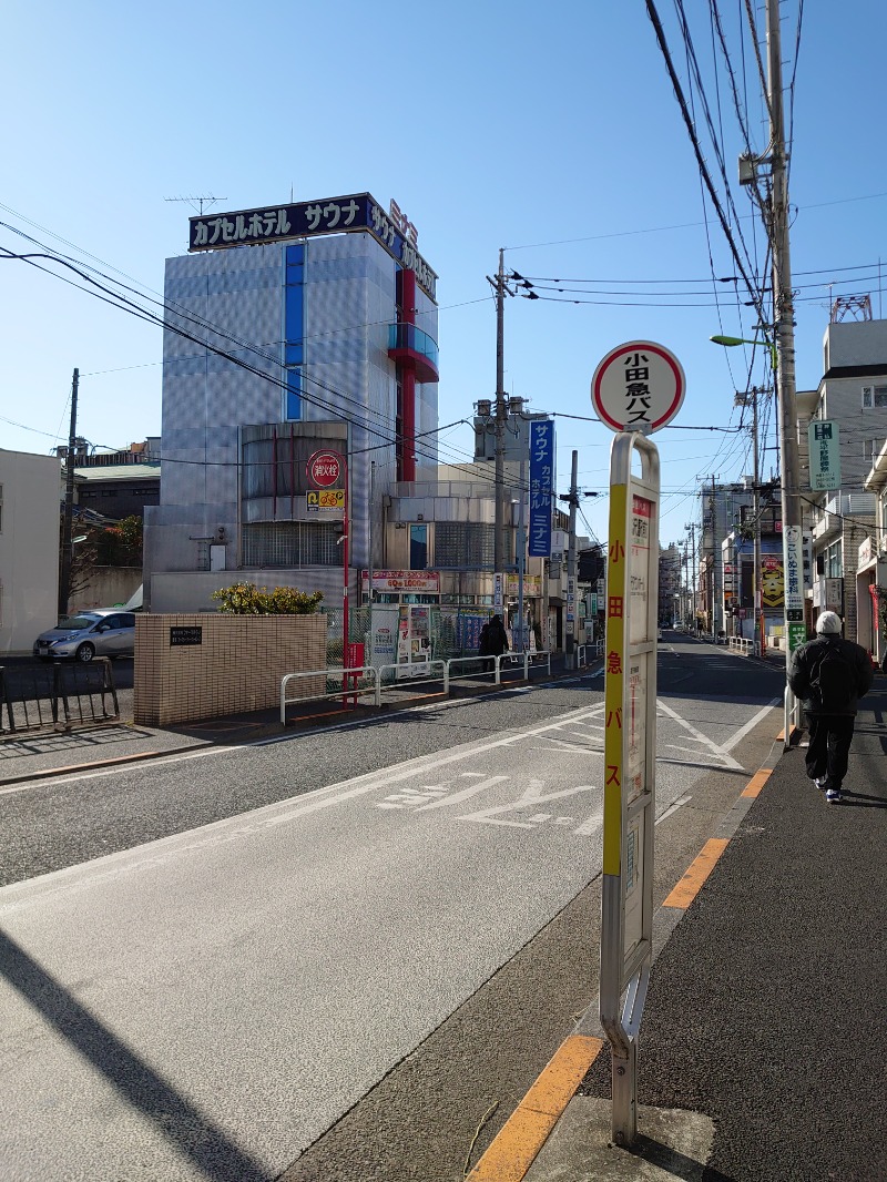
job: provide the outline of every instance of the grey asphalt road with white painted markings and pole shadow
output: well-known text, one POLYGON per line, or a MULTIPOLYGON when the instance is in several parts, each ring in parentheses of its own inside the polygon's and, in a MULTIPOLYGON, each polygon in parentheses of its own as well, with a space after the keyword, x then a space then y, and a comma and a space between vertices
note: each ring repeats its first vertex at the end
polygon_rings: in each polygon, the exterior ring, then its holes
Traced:
MULTIPOLYGON (((692 641, 659 677, 663 894, 781 678, 692 641)), ((460 1177, 595 988, 602 748, 577 677, 7 795, 9 1176, 460 1177)))

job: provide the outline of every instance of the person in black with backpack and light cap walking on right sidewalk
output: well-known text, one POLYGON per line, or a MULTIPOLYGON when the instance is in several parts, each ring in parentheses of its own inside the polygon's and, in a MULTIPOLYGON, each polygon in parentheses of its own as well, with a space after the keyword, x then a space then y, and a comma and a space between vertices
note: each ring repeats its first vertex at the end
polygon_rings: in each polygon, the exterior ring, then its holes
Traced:
POLYGON ((856 703, 870 689, 873 677, 868 652, 841 636, 841 618, 834 611, 822 612, 816 639, 792 655, 789 686, 801 700, 810 734, 807 774, 826 790, 829 804, 841 801, 856 703))

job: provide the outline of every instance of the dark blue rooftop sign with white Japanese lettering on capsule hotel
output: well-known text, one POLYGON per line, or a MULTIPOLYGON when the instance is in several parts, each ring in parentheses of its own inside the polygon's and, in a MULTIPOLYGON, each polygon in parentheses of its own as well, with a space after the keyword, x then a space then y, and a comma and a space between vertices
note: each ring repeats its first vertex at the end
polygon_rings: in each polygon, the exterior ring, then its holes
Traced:
POLYGON ((188 219, 188 249, 220 251, 229 246, 258 246, 293 238, 316 238, 364 230, 371 234, 401 266, 415 271, 416 282, 429 299, 436 301, 438 275, 415 245, 395 226, 369 193, 347 197, 321 197, 298 204, 240 209, 228 214, 201 214, 188 219))

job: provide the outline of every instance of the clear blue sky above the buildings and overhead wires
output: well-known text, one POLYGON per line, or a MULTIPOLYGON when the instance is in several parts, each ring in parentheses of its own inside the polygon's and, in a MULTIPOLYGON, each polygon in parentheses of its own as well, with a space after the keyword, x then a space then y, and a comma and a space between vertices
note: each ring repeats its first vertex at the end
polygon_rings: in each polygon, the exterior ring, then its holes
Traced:
MULTIPOLYGON (((737 177, 745 132, 758 155, 769 138, 746 2, 654 7, 744 269, 766 288, 760 215, 737 177)), ((763 7, 752 8, 763 39, 763 7)), ((561 493, 577 452, 578 487, 598 494, 582 498, 580 532, 608 531, 613 435, 590 402, 597 363, 632 339, 680 359, 684 405, 654 439, 660 541, 684 540, 699 485, 752 470, 736 392, 772 382, 765 351, 708 340, 755 336, 758 314, 732 281, 738 265, 647 9, 7 0, 0 448, 46 454, 66 441, 75 368, 90 443, 128 447, 161 428, 160 327, 58 262, 7 252, 88 264, 143 305, 162 298, 164 260, 187 251, 196 208, 177 199, 215 197, 225 212, 369 191, 383 207, 396 200, 440 277, 439 420, 464 421, 441 431, 441 462, 471 459, 473 404, 496 394, 486 277, 505 248, 506 273, 539 296, 520 287, 506 300, 505 388, 556 416, 561 493)), ((822 376, 836 296, 870 294, 883 313, 885 34, 881 0, 782 5, 798 389, 822 376)), ((772 400, 760 407, 766 479, 778 449, 772 400)))

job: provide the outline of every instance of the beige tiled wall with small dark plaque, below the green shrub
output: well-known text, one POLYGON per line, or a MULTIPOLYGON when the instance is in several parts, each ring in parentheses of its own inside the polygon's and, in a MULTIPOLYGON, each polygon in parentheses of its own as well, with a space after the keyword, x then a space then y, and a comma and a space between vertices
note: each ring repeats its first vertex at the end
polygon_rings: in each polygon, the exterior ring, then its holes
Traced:
MULTIPOLYGON (((134 717, 164 727, 279 706, 287 673, 326 668, 326 616, 136 616, 134 717), (200 643, 174 643, 195 638, 200 643)), ((289 694, 322 694, 325 677, 289 694)))

